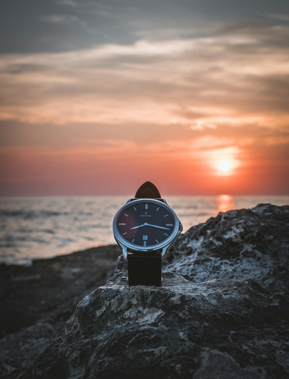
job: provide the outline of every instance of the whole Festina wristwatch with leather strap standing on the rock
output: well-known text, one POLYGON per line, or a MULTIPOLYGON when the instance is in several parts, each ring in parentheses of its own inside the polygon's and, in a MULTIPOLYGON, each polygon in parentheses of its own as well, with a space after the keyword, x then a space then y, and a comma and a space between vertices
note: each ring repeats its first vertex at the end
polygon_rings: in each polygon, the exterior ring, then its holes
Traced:
POLYGON ((113 235, 127 260, 128 283, 161 286, 162 261, 183 226, 151 182, 137 190, 113 219, 113 235))

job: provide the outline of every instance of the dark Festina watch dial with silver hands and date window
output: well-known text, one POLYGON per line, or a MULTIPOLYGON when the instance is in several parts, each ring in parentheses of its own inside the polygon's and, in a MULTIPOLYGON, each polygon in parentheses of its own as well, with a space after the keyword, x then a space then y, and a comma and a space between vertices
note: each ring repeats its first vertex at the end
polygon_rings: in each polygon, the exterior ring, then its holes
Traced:
POLYGON ((162 243, 174 230, 171 212, 149 200, 130 204, 118 216, 116 227, 129 243, 151 247, 162 243))

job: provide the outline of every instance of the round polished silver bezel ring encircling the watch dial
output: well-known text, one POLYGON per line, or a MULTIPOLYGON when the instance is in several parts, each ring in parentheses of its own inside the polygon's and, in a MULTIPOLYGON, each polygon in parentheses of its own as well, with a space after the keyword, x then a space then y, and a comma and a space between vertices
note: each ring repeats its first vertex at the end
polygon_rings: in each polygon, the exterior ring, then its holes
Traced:
POLYGON ((170 243, 176 238, 176 236, 179 232, 179 223, 180 223, 180 221, 179 221, 175 211, 170 207, 170 205, 166 204, 165 202, 162 202, 162 201, 156 200, 156 199, 136 199, 136 200, 132 200, 132 201, 124 204, 121 208, 119 208, 119 210, 116 212, 116 215, 113 219, 113 228, 112 229, 113 229, 113 235, 115 237, 116 242, 120 243, 123 246, 126 246, 127 249, 130 249, 134 252, 151 252, 151 251, 161 250, 164 247, 170 245, 170 243), (170 234, 170 236, 168 236, 168 238, 166 238, 163 242, 152 245, 151 247, 137 246, 135 244, 128 242, 118 232, 117 225, 116 225, 118 216, 123 210, 131 207, 132 204, 137 204, 140 202, 153 202, 155 204, 160 204, 162 207, 166 208, 171 213, 171 215, 173 216, 173 219, 174 219, 174 229, 173 229, 173 232, 170 234))

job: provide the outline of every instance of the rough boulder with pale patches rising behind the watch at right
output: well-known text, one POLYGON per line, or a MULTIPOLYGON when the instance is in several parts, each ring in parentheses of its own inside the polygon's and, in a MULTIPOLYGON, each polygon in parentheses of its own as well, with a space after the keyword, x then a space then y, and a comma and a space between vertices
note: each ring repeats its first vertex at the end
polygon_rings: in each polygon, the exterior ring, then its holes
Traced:
MULTIPOLYGON (((113 279, 124 276, 126 270, 120 257, 113 279)), ((191 227, 171 247, 163 271, 197 283, 253 278, 288 296, 289 206, 259 204, 219 213, 191 227)))

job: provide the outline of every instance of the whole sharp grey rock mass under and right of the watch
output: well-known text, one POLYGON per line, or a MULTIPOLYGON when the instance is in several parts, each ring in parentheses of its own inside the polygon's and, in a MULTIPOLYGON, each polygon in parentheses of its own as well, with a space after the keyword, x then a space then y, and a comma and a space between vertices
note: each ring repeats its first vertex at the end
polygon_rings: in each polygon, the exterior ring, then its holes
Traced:
POLYGON ((162 287, 127 287, 119 258, 15 378, 287 378, 288 256, 289 206, 261 204, 180 235, 162 287))

